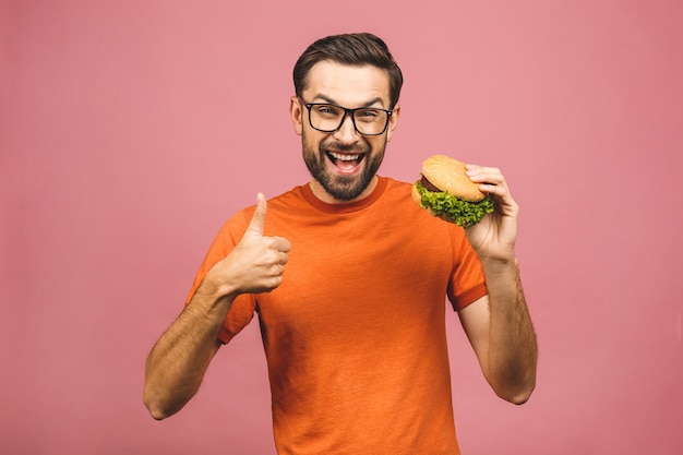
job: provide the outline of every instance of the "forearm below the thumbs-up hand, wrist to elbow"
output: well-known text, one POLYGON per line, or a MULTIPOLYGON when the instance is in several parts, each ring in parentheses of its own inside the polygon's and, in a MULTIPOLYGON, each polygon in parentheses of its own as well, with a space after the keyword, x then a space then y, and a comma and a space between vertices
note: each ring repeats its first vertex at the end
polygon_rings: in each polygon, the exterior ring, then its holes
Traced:
POLYGON ((176 414, 194 396, 218 349, 233 298, 204 285, 147 358, 143 399, 155 419, 176 414))

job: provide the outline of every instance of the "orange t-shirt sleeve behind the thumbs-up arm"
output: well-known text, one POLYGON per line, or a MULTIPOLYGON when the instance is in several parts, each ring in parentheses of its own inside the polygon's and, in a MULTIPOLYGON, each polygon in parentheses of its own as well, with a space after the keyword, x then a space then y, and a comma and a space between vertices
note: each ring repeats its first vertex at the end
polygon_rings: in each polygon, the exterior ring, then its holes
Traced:
MULTIPOLYGON (((247 226, 249 226, 249 219, 250 218, 247 217, 247 213, 242 211, 237 213, 223 225, 218 235, 214 238, 214 241, 208 248, 208 251, 200 265, 200 270, 194 277, 194 282, 192 283, 188 297, 185 298, 185 307, 190 304, 192 297, 194 297, 196 289, 202 284, 202 280, 208 271, 217 262, 226 258, 240 241, 247 230, 247 226)), ((223 343, 228 343, 232 339, 232 337, 240 333, 241 330, 244 328, 252 320, 255 308, 256 302, 253 295, 243 294, 238 296, 232 302, 232 307, 230 307, 225 325, 218 334, 218 339, 223 343)))

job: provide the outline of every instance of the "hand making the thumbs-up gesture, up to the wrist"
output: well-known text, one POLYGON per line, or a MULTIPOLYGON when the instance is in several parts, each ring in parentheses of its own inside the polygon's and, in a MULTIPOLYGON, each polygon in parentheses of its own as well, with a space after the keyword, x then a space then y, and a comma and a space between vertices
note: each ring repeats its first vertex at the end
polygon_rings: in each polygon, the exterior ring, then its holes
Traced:
POLYGON ((216 272, 228 279, 237 294, 269 292, 283 282, 289 241, 283 237, 263 235, 267 203, 265 196, 256 196, 256 209, 247 231, 230 254, 220 261, 211 273, 216 272))

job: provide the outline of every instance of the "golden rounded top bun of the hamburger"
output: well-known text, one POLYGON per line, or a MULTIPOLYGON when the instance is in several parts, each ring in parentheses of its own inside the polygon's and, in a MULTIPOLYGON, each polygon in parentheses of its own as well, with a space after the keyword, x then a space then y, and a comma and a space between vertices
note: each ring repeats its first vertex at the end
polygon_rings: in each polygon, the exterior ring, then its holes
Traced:
POLYGON ((434 187, 468 202, 479 202, 484 194, 465 173, 465 164, 445 155, 430 156, 422 163, 422 176, 434 187))

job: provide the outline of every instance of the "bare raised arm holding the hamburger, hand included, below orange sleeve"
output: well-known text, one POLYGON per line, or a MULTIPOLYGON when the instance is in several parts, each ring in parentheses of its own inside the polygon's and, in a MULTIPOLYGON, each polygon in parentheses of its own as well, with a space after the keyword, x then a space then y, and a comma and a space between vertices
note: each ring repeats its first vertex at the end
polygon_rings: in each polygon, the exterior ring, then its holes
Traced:
POLYGON ((460 321, 491 387, 523 404, 536 386, 538 347, 514 250, 519 207, 498 169, 468 168, 470 179, 493 197, 495 212, 467 229, 489 295, 462 310, 460 321))

